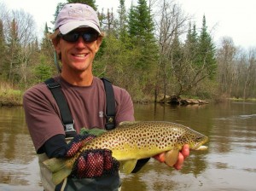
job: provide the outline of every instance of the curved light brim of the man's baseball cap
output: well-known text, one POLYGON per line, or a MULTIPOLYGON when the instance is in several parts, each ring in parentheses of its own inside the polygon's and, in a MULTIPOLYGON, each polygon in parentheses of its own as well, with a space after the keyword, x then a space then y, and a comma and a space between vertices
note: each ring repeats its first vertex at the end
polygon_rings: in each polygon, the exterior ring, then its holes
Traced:
POLYGON ((67 34, 68 32, 72 32, 76 28, 80 27, 90 27, 96 30, 96 32, 99 32, 101 34, 101 31, 96 24, 88 21, 73 21, 73 22, 68 22, 66 24, 63 24, 62 26, 59 27, 61 34, 67 34))

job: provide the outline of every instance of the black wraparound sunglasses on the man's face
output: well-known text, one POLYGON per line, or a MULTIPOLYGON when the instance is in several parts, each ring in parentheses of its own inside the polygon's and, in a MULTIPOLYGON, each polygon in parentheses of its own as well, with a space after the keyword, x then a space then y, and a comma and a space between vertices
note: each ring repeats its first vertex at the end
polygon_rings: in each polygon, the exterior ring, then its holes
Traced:
POLYGON ((59 33, 58 36, 69 43, 76 42, 81 36, 84 39, 85 43, 91 43, 93 41, 96 41, 96 39, 99 37, 99 33, 98 32, 69 32, 67 34, 59 33))

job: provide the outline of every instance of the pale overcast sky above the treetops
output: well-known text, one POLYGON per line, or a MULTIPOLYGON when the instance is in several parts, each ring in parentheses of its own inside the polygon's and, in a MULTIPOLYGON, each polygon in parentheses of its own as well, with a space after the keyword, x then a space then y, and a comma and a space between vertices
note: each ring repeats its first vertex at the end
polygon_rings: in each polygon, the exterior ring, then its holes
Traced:
MULTIPOLYGON (((125 0, 129 8, 132 0, 125 0)), ((53 20, 57 3, 66 0, 0 0, 8 9, 24 9, 33 15, 38 32, 44 31, 44 24, 53 20)), ((137 0, 133 0, 137 3, 137 0)), ((201 26, 203 14, 208 29, 216 43, 222 37, 233 38, 236 46, 245 49, 256 48, 256 0, 176 0, 185 13, 191 14, 196 26, 201 26)), ((96 0, 99 9, 117 9, 119 0, 96 0)))

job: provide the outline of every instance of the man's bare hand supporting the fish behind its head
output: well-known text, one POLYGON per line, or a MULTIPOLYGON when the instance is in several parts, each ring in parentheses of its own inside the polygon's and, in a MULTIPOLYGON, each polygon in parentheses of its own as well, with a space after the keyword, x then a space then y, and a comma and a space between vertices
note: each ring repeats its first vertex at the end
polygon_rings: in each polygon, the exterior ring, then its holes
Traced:
POLYGON ((160 153, 154 156, 154 159, 159 160, 161 163, 173 166, 176 170, 182 169, 183 161, 189 156, 189 145, 183 146, 181 152, 175 150, 167 151, 166 153, 160 153))

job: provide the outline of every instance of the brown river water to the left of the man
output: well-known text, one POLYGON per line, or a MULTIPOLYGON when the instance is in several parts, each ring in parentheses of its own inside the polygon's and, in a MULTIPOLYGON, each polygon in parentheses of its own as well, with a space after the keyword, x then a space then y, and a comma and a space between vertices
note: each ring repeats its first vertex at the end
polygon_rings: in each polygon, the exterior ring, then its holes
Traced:
POLYGON ((40 188, 38 159, 22 107, 0 109, 0 137, 0 190, 40 188))

